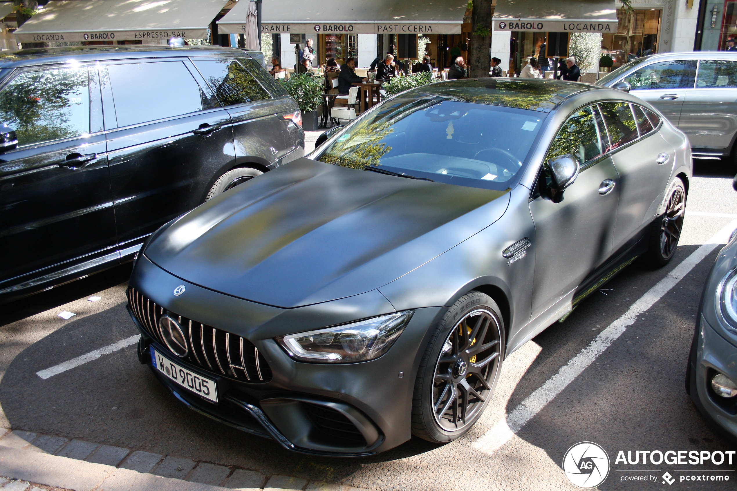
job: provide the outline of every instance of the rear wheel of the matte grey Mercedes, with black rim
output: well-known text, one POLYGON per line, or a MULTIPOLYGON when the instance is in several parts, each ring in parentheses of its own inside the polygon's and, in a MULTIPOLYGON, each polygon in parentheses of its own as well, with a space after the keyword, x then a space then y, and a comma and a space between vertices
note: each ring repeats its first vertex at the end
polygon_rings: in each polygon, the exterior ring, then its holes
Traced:
POLYGON ((671 261, 678 246, 681 230, 683 230, 686 191, 680 177, 674 177, 671 181, 663 203, 666 209, 652 223, 648 250, 640 258, 642 264, 654 268, 662 268, 671 261))

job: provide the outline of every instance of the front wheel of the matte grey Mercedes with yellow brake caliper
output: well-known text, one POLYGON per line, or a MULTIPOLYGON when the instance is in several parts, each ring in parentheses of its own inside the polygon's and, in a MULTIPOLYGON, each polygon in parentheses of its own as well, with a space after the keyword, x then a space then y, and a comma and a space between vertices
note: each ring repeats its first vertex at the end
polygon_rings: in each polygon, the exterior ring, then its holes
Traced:
POLYGON ((419 365, 412 401, 416 437, 445 443, 469 431, 492 398, 505 342, 501 312, 489 295, 470 292, 448 309, 419 365))

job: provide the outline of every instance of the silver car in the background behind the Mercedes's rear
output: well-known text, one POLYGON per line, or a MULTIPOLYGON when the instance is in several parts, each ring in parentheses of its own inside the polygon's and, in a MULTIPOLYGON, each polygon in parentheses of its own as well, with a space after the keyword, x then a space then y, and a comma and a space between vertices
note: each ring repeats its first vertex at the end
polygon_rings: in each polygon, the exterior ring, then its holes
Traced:
POLYGON ((664 53, 637 58, 598 85, 624 88, 685 133, 696 158, 737 158, 737 53, 664 53))

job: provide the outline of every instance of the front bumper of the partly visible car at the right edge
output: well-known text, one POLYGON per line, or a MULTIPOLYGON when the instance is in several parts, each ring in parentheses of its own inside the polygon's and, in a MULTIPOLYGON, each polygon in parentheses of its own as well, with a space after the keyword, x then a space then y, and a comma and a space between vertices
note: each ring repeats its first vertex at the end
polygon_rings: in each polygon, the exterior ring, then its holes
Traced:
MULTIPOLYGON (((711 379, 717 372, 737 381, 737 347, 727 342, 699 316, 696 338, 696 398, 699 409, 732 437, 737 438, 737 398, 722 398, 711 389, 711 379)), ((694 387, 691 397, 694 397, 694 387)))

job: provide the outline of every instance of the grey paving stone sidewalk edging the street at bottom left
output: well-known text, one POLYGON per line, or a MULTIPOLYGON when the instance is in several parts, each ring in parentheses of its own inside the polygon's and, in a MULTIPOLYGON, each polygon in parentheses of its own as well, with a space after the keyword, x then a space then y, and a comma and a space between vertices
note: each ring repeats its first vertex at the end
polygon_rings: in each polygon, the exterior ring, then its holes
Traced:
MULTIPOLYGON (((326 484, 321 482, 310 482, 306 479, 290 476, 267 476, 256 470, 243 469, 237 466, 226 466, 212 464, 209 462, 197 462, 178 456, 163 456, 158 453, 144 451, 131 451, 128 448, 113 447, 111 445, 99 445, 83 440, 69 440, 52 435, 35 434, 29 431, 7 431, 0 438, 0 449, 17 449, 18 451, 35 451, 47 453, 52 456, 66 457, 92 464, 102 464, 117 469, 127 469, 136 473, 147 473, 161 478, 172 478, 174 480, 189 481, 192 483, 206 484, 207 487, 229 488, 234 490, 310 490, 310 491, 360 491, 358 488, 347 487, 340 484, 326 484)), ((0 452, 1 453, 1 452, 0 452)), ((0 476, 2 470, 0 466, 0 476)), ((9 476, 18 478, 22 476, 9 476)), ((7 486, 21 481, 9 481, 7 486)), ((31 490, 30 484, 21 487, 21 484, 13 484, 9 489, 15 491, 31 490)), ((53 487, 41 487, 40 490, 61 489, 53 487)), ((71 489, 71 488, 70 488, 71 489)), ((212 488, 215 489, 215 488, 212 488)), ((34 490, 37 491, 37 490, 34 490)))

